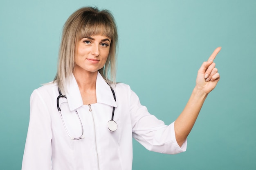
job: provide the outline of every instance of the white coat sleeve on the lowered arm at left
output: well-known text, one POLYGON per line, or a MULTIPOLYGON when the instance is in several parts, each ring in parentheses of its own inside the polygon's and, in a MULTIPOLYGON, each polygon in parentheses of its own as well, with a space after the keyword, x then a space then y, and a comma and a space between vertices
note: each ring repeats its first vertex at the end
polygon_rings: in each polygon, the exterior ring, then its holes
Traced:
POLYGON ((30 97, 30 119, 22 170, 52 170, 52 131, 49 110, 37 90, 30 97))

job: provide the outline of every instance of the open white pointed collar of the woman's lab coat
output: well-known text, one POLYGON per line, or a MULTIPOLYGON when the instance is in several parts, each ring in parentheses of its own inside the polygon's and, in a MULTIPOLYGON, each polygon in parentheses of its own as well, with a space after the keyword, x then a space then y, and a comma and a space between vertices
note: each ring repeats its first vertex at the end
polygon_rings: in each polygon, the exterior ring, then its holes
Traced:
MULTIPOLYGON (((73 74, 70 78, 70 83, 67 85, 66 96, 70 111, 73 111, 74 109, 77 109, 83 105, 79 87, 73 74)), ((106 83, 99 72, 96 79, 96 97, 97 103, 103 103, 112 107, 117 107, 117 103, 113 97, 109 85, 106 83)))

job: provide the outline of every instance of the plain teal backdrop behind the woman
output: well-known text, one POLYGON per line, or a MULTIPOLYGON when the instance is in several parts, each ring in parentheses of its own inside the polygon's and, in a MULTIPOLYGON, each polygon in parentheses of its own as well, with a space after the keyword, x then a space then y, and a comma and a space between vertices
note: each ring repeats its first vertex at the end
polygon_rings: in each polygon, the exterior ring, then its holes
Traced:
POLYGON ((187 151, 164 155, 134 141, 133 170, 256 169, 255 0, 1 0, 0 169, 21 168, 30 94, 53 80, 63 24, 88 5, 117 21, 117 81, 166 124, 186 105, 202 62, 222 46, 221 79, 187 151))

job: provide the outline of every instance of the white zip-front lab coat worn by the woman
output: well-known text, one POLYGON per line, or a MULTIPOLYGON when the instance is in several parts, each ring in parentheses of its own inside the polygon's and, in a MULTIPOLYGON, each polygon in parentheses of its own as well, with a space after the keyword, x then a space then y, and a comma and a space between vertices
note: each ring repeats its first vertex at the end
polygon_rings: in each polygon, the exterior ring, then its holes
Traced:
POLYGON ((40 87, 31 94, 30 120, 22 161, 22 170, 131 170, 132 137, 148 150, 176 154, 186 150, 186 142, 177 144, 174 122, 169 126, 150 115, 137 95, 123 83, 110 87, 98 72, 97 103, 83 105, 74 76, 67 86, 67 99, 60 99, 61 112, 72 137, 81 135, 77 110, 84 129, 84 139, 71 140, 67 135, 56 99, 56 83, 40 87), (112 108, 118 124, 108 130, 112 108))

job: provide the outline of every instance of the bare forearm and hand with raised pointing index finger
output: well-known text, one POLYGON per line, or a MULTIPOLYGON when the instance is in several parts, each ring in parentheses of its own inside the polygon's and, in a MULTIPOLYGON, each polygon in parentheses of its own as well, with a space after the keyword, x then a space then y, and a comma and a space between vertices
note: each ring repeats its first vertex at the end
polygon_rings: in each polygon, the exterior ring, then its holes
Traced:
POLYGON ((213 63, 220 49, 221 47, 216 48, 208 61, 203 62, 201 65, 196 78, 196 86, 186 107, 174 123, 175 137, 180 146, 182 146, 193 128, 207 95, 216 87, 220 80, 218 69, 215 68, 216 64, 213 63))

